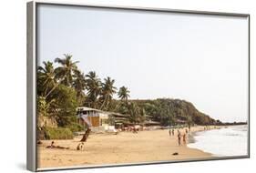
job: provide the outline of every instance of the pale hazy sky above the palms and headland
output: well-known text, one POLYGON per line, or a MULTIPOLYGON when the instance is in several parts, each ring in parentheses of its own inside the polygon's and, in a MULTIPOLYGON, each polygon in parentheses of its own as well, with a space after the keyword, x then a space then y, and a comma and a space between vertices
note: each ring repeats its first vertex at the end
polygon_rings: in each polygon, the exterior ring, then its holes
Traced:
POLYGON ((248 116, 248 20, 39 6, 38 58, 73 55, 130 97, 180 98, 221 121, 248 116))

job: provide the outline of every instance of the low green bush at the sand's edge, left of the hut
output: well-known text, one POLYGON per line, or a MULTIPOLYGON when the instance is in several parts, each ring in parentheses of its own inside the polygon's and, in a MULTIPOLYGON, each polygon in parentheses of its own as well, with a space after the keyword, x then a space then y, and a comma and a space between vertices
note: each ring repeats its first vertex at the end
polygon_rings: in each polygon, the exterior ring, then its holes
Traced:
POLYGON ((73 139, 73 133, 69 128, 65 127, 45 127, 46 139, 73 139))

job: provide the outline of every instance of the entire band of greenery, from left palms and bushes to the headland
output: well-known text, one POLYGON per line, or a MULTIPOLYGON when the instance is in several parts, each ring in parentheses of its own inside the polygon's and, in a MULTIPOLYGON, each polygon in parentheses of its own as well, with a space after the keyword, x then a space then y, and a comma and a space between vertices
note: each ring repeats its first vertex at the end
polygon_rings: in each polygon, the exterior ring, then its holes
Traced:
POLYGON ((43 66, 38 66, 37 114, 54 118, 57 122, 56 128, 38 127, 42 138, 69 138, 70 133, 82 130, 83 127, 77 124, 77 107, 126 114, 132 124, 142 123, 146 117, 158 121, 162 126, 182 122, 189 125, 215 123, 214 119, 184 100, 129 100, 128 87, 118 89, 114 79, 107 76, 101 80, 94 71, 84 74, 77 64, 78 61, 74 62, 71 55, 65 54, 64 58, 56 58, 55 63, 47 61, 43 62, 43 66), (116 94, 119 99, 113 98, 116 94))

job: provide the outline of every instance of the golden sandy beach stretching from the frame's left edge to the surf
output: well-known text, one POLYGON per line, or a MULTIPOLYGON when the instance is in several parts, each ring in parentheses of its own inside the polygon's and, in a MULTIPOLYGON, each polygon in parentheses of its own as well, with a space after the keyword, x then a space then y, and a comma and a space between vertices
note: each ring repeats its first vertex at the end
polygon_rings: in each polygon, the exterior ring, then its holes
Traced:
MULTIPOLYGON (((204 127, 191 127, 190 134, 204 130, 204 127)), ((181 134, 185 129, 180 129, 181 134)), ((58 168, 72 166, 92 166, 102 164, 125 164, 152 161, 174 161, 197 158, 211 158, 210 153, 199 149, 178 145, 177 130, 169 137, 168 129, 120 132, 113 134, 91 134, 85 143, 85 150, 78 151, 81 137, 73 140, 54 140, 56 146, 69 149, 46 148, 52 140, 43 140, 38 149, 38 168, 58 168), (179 155, 172 155, 173 153, 179 155)), ((187 137, 189 142, 189 137, 187 137)))

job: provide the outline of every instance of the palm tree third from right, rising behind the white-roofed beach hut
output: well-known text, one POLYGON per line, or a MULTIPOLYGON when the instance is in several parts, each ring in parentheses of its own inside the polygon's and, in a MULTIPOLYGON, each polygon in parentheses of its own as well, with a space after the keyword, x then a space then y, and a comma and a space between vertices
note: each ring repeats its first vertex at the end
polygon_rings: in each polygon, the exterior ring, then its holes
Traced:
POLYGON ((97 97, 101 92, 101 81, 94 71, 86 75, 87 82, 87 104, 89 107, 97 108, 97 97))

